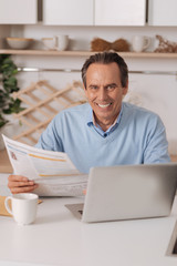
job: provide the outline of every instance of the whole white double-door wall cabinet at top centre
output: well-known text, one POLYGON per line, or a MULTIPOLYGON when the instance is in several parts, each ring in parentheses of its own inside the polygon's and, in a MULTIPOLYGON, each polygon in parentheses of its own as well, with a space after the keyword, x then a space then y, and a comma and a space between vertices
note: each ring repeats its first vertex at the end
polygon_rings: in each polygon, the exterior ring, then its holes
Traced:
POLYGON ((144 25, 146 0, 43 0, 43 23, 144 25))

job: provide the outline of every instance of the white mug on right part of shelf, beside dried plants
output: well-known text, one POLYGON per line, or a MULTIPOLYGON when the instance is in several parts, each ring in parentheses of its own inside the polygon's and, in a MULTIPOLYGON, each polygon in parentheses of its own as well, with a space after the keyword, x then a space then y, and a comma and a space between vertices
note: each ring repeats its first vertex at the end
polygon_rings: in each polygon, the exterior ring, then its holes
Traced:
POLYGON ((132 47, 134 52, 143 52, 150 44, 150 38, 144 35, 134 35, 132 47))

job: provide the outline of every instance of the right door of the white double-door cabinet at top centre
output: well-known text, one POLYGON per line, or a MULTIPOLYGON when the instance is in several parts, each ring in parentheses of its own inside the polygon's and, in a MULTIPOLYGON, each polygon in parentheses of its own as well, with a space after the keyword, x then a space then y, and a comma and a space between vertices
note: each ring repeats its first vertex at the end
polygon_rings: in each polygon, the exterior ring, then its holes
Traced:
POLYGON ((144 25, 146 0, 95 0, 95 25, 144 25))

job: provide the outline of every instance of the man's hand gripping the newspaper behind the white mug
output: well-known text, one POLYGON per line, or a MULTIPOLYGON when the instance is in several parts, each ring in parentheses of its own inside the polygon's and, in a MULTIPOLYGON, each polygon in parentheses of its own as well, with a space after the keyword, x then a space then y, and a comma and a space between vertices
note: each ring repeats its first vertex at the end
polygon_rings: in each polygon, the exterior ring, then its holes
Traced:
POLYGON ((22 175, 9 175, 8 181, 12 194, 32 192, 38 187, 34 181, 29 181, 22 175))

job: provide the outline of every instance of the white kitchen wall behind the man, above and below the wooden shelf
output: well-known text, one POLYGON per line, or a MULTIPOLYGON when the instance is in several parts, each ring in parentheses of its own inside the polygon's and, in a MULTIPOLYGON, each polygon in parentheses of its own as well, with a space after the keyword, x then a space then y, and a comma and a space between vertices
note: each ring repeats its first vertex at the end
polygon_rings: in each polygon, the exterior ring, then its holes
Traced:
MULTIPOLYGON (((2 27, 1 27, 2 28, 2 27)), ((0 29, 1 29, 0 28, 0 29)), ((98 37, 107 41, 119 38, 129 43, 134 34, 148 35, 152 44, 147 51, 154 51, 158 45, 155 35, 160 34, 177 42, 176 27, 56 27, 56 25, 12 25, 10 35, 34 38, 33 49, 44 49, 43 37, 69 34, 69 50, 90 50, 90 42, 98 37)), ((46 57, 46 55, 13 55, 19 66, 39 69, 72 69, 75 72, 40 71, 19 74, 21 89, 38 80, 48 80, 50 84, 61 90, 73 80, 81 80, 80 69, 86 57, 46 57), (77 72, 76 72, 77 70, 77 72)), ((169 141, 169 152, 177 154, 177 60, 176 59, 143 59, 125 58, 129 66, 129 91, 132 98, 138 98, 138 104, 157 112, 163 119, 169 141), (146 71, 146 73, 132 73, 146 71), (147 73, 149 72, 150 73, 147 73)))

